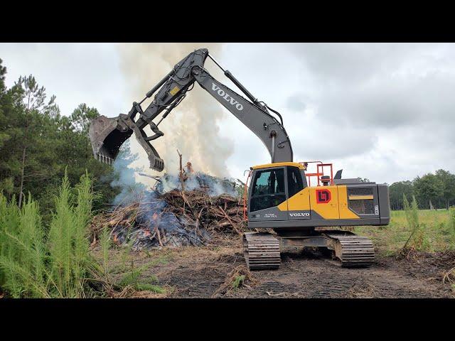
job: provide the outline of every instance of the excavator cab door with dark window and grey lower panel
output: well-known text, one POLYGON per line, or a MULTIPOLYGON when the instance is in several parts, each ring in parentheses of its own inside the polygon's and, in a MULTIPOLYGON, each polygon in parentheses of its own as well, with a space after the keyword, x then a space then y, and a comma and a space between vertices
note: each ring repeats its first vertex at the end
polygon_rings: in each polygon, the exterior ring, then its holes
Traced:
POLYGON ((287 220, 287 184, 284 167, 257 169, 252 174, 248 205, 248 220, 252 222, 287 220))

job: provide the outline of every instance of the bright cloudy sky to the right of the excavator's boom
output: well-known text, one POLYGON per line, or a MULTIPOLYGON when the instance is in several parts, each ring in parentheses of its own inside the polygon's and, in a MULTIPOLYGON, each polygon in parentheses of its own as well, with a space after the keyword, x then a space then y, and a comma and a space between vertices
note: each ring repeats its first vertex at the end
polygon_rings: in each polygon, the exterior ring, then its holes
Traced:
POLYGON ((230 45, 225 64, 240 50, 236 72, 282 113, 296 161, 333 161, 346 176, 389 183, 455 171, 455 45, 230 45))

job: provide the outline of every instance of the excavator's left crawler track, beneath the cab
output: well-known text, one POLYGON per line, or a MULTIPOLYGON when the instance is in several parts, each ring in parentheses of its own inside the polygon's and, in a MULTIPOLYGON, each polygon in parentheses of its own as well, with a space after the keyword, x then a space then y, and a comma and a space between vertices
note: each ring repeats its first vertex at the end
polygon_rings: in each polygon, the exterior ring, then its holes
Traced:
POLYGON ((248 269, 278 269, 281 264, 279 240, 269 233, 246 232, 243 252, 248 269))

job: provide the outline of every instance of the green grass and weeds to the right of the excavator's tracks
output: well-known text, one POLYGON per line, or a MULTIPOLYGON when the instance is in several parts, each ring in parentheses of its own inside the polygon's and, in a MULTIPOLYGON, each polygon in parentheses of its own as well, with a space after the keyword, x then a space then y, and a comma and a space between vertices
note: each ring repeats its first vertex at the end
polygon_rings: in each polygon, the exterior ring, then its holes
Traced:
POLYGON ((455 208, 416 210, 414 213, 405 210, 392 211, 390 224, 387 226, 354 227, 353 232, 373 239, 378 252, 385 255, 399 253, 407 242, 407 247, 414 247, 420 251, 455 250, 455 208), (409 217, 410 213, 415 217, 409 217), (416 232, 411 237, 416 229, 416 218, 419 229, 418 238, 414 238, 416 232))

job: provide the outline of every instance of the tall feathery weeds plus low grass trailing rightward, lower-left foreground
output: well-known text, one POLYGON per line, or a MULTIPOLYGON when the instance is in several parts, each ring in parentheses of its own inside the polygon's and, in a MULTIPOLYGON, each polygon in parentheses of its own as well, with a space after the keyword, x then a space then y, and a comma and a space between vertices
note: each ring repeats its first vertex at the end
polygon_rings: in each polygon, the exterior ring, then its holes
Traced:
POLYGON ((38 202, 28 196, 21 209, 0 193, 0 288, 13 298, 104 297, 112 291, 165 293, 156 285, 156 276, 147 274, 151 266, 166 261, 160 256, 142 266, 129 264, 131 245, 122 252, 122 278, 114 281, 109 266, 110 231, 100 236, 101 255, 90 250, 89 225, 92 220, 92 180, 88 175, 70 187, 65 175, 55 197, 55 210, 48 225, 43 224, 38 202))

